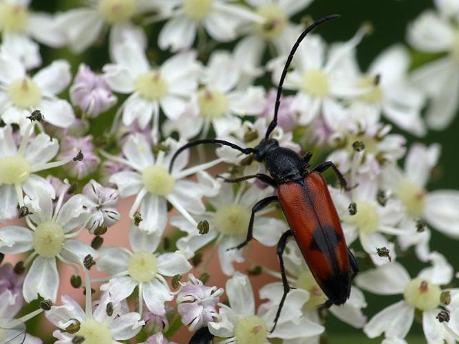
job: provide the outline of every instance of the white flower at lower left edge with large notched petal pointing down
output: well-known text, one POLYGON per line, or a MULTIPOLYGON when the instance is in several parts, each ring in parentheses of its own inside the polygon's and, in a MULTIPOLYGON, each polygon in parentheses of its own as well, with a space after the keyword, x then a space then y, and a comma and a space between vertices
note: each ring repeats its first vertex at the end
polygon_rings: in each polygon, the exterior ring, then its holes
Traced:
MULTIPOLYGON (((68 189, 68 187, 67 187, 68 189)), ((43 189, 36 189, 36 197, 26 196, 24 203, 30 210, 26 218, 28 228, 6 226, 0 229, 0 252, 23 253, 32 250, 24 265, 33 260, 25 277, 23 296, 25 301, 44 299, 56 301, 59 275, 56 259, 78 268, 72 262, 83 264, 87 255, 96 252, 82 241, 73 239, 85 228, 89 219, 89 202, 83 195, 74 195, 63 204, 63 191, 53 211, 52 198, 43 189)))

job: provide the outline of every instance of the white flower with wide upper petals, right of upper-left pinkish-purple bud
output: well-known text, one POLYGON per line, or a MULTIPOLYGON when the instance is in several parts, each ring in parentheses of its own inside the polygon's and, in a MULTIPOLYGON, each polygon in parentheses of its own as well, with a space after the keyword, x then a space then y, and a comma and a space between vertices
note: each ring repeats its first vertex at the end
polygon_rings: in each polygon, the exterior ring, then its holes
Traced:
POLYGON ((111 89, 130 94, 120 109, 123 124, 138 120, 143 129, 153 116, 153 140, 158 142, 160 109, 177 120, 198 87, 200 65, 195 52, 174 55, 155 68, 142 47, 126 41, 114 47, 113 59, 115 64, 105 65, 103 71, 111 89))

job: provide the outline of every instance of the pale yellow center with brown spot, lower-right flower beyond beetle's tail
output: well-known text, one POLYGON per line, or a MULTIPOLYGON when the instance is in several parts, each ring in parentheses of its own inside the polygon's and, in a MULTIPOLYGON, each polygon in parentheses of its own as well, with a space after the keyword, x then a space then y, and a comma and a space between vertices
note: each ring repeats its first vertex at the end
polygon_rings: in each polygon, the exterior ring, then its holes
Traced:
POLYGON ((441 293, 442 290, 436 284, 416 278, 409 281, 403 291, 403 297, 418 310, 434 310, 440 305, 441 293))

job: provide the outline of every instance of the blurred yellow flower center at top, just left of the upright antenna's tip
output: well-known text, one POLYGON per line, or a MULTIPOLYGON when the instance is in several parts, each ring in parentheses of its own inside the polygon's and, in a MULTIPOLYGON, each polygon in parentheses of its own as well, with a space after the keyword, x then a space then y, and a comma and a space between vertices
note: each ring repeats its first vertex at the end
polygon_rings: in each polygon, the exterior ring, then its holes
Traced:
POLYGON ((255 30, 264 39, 277 38, 286 28, 288 17, 284 10, 274 3, 266 3, 260 6, 257 14, 265 19, 264 23, 255 23, 255 30))

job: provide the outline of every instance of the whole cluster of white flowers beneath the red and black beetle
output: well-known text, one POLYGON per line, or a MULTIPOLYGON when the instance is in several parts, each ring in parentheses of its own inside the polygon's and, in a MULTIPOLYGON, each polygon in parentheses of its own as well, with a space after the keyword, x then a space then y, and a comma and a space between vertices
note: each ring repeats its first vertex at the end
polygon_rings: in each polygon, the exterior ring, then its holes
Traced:
POLYGON ((441 146, 421 142, 458 113, 459 1, 434 1, 407 25, 407 44, 367 68, 365 24, 344 42, 308 34, 284 69, 311 2, 94 0, 35 12, 0 0, 1 343, 51 340, 26 333, 29 321, 68 344, 182 343, 180 326, 200 341, 319 343, 333 332, 328 314, 384 343, 406 343, 415 319, 428 343, 459 341, 457 267, 431 243, 459 238, 459 191, 430 190, 441 146), (327 186, 360 266, 342 305, 329 305, 295 240, 275 270, 251 257, 259 246, 242 248, 255 239, 280 254, 289 229, 250 154, 268 130, 306 168, 310 151, 334 162, 349 186, 327 186), (181 149, 206 139, 246 149, 181 149), (276 281, 253 290, 248 275, 261 274, 276 281), (398 301, 376 310, 371 294, 398 301))

